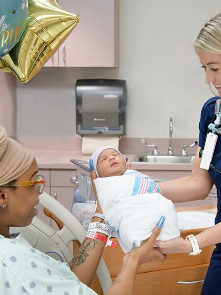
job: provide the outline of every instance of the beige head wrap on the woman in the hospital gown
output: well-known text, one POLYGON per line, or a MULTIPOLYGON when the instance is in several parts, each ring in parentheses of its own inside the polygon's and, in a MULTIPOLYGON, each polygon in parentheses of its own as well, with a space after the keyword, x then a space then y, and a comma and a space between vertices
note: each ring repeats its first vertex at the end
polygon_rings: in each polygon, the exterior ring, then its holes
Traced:
POLYGON ((32 151, 12 138, 0 126, 0 186, 25 173, 34 160, 32 151))

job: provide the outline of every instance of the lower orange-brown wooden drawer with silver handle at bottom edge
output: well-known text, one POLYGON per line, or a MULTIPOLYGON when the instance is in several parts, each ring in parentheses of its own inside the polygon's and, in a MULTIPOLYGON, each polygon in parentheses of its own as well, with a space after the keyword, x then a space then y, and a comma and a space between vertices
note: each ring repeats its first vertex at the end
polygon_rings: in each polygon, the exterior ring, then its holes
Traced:
POLYGON ((200 295, 203 283, 177 282, 204 280, 207 268, 200 265, 137 274, 134 295, 200 295))

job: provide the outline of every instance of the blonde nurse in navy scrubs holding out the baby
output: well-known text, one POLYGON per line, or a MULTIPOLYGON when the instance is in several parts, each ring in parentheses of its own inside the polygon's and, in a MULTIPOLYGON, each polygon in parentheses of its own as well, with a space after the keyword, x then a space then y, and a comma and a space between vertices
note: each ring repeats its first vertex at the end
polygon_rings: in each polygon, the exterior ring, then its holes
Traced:
MULTIPOLYGON (((197 236, 183 239, 181 237, 157 244, 160 251, 165 254, 191 253, 199 254, 201 248, 216 244, 205 282, 202 295, 221 294, 221 136, 218 135, 214 154, 209 170, 200 168, 202 158, 200 148, 204 148, 210 124, 215 110, 215 104, 221 96, 221 13, 207 22, 199 32, 194 42, 194 49, 199 57, 201 67, 206 74, 206 82, 211 89, 217 89, 219 96, 207 100, 201 111, 199 121, 199 148, 195 154, 193 171, 190 176, 183 177, 160 184, 163 195, 173 202, 185 202, 205 199, 213 184, 217 187, 218 213, 216 225, 205 230, 197 236)), ((215 90, 214 90, 215 91, 215 90)), ((214 93, 214 92, 213 92, 214 93)), ((215 94, 215 93, 214 93, 215 94)), ((214 144, 204 152, 210 152, 214 144)), ((209 163, 210 164, 210 163, 209 163)))

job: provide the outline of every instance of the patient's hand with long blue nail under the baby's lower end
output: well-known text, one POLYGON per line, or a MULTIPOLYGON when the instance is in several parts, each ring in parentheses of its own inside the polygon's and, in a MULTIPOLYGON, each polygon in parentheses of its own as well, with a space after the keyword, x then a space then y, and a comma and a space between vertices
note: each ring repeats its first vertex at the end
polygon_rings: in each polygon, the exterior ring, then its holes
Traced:
MULTIPOLYGON (((163 223, 161 224, 163 226, 163 223)), ((136 247, 131 252, 124 256, 124 260, 133 258, 133 260, 138 262, 138 266, 153 259, 158 259, 160 261, 165 261, 166 255, 162 254, 158 249, 153 246, 156 243, 156 238, 160 235, 162 228, 155 227, 152 235, 147 238, 140 247, 136 247)), ((123 260, 123 262, 124 262, 123 260)))

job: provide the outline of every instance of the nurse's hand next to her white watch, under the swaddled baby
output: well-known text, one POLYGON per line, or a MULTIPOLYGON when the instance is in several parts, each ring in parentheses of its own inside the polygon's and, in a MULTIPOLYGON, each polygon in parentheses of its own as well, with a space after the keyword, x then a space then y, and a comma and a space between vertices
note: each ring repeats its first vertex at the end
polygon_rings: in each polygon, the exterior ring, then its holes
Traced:
POLYGON ((166 242, 156 241, 154 244, 164 254, 190 253, 193 251, 190 241, 181 236, 166 242))

